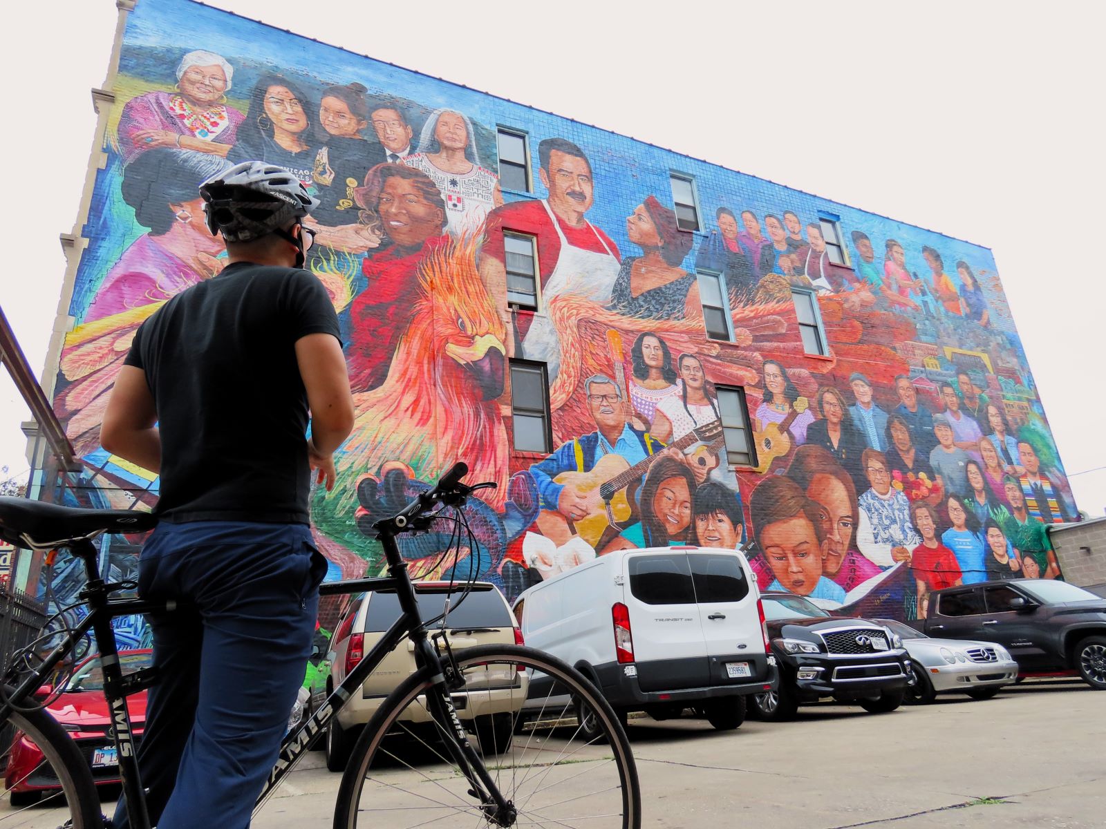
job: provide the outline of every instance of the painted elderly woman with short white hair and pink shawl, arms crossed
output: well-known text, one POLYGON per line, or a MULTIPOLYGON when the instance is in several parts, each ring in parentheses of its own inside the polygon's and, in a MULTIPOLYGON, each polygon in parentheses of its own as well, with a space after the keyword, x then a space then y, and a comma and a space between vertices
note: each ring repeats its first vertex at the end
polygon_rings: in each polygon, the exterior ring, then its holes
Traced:
POLYGON ((186 54, 177 66, 176 92, 131 98, 119 116, 119 151, 125 164, 155 147, 175 147, 227 157, 246 116, 227 106, 234 70, 215 52, 186 54))

